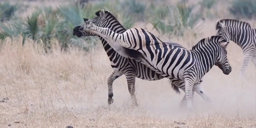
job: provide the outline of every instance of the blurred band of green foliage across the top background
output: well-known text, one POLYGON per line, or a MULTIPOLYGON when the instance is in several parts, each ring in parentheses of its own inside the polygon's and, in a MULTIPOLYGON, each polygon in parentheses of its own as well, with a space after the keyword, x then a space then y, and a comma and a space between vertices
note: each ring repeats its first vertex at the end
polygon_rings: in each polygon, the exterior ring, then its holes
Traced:
MULTIPOLYGON (((72 30, 83 23, 83 18, 95 17, 95 12, 102 8, 116 16, 126 29, 132 28, 136 23, 149 23, 161 35, 182 38, 189 31, 197 36, 205 19, 218 19, 217 8, 223 1, 199 0, 188 4, 191 1, 179 0, 168 4, 167 0, 76 0, 57 8, 38 6, 33 11, 29 11, 30 6, 5 1, 0 2, 0 40, 21 35, 21 43, 24 44, 26 38, 31 38, 35 43, 41 44, 46 53, 51 52, 55 40, 61 50, 78 47, 88 51, 96 45, 98 38, 77 38, 72 35, 72 30), (25 12, 30 13, 21 15, 25 12)), ((226 11, 232 18, 256 19, 256 0, 228 2, 230 6, 226 7, 226 11)))

